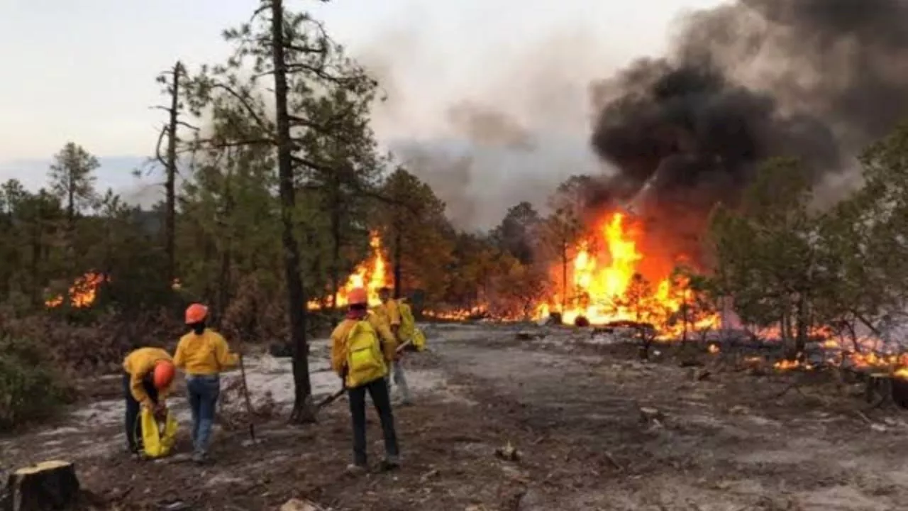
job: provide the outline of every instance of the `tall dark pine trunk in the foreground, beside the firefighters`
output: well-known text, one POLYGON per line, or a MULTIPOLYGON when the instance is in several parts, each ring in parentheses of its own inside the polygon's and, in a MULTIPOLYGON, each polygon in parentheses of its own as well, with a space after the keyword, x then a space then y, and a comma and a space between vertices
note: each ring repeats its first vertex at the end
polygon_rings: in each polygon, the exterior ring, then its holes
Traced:
POLYGON ((306 342, 306 291, 300 276, 300 247, 293 235, 296 194, 293 183, 293 156, 290 113, 287 107, 287 65, 284 57, 283 3, 271 0, 271 60, 274 65, 274 105, 277 123, 278 174, 281 189, 281 239, 284 248, 284 274, 287 280, 291 342, 293 345, 293 385, 295 399, 291 421, 315 421, 312 386, 309 377, 309 346, 306 342))

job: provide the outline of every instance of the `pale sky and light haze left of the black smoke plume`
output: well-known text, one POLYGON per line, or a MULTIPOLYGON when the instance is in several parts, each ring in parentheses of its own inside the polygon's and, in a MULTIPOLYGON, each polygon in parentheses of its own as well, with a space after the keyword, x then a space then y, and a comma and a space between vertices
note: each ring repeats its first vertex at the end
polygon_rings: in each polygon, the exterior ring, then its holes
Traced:
MULTIPOLYGON (((428 176, 465 226, 495 224, 508 203, 541 200, 554 175, 594 165, 588 82, 661 52, 680 11, 716 3, 286 1, 313 9, 380 74, 391 99, 376 127, 387 145, 408 148, 408 157, 449 156, 455 169, 472 161, 469 183, 462 171, 428 176), (528 145, 508 139, 522 131, 532 132, 528 145), (502 150, 502 142, 516 144, 502 150)), ((160 102, 154 75, 177 58, 221 61, 229 51, 222 28, 248 19, 256 4, 0 2, 3 67, 14 77, 0 82, 0 179, 43 184, 51 155, 74 140, 101 156, 103 184, 131 188, 127 195, 153 190, 130 172, 152 152, 162 120, 148 108, 160 102)))

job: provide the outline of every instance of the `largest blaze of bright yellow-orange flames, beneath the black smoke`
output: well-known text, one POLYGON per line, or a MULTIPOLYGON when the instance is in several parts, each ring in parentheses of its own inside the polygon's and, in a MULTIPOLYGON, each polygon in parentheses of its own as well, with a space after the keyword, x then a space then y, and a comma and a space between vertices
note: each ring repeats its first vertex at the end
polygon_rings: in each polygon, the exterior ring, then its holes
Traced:
MULTIPOLYGON (((568 324, 573 324, 578 316, 599 325, 636 321, 656 326, 662 337, 679 335, 684 326, 669 325, 669 320, 688 299, 686 282, 672 282, 668 276, 661 276, 655 286, 647 285, 640 276, 641 263, 646 259, 637 247, 641 234, 636 225, 629 225, 623 213, 606 215, 593 235, 578 243, 573 251, 568 296, 548 299, 538 306, 537 315, 548 316, 550 311, 556 311, 568 324), (604 250, 597 251, 597 247, 604 250)), ((558 276, 561 268, 553 268, 552 273, 558 276)), ((689 319, 692 329, 718 324, 717 315, 689 319)))

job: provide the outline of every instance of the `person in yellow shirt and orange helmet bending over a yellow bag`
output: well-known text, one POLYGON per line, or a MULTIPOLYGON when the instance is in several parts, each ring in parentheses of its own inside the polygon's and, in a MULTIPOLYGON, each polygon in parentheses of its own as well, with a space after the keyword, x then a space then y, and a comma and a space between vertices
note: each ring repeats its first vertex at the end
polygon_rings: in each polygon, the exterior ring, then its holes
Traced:
POLYGON ((173 359, 161 348, 140 347, 123 359, 123 394, 126 397, 126 442, 129 452, 142 453, 142 407, 163 417, 164 401, 173 383, 173 359))

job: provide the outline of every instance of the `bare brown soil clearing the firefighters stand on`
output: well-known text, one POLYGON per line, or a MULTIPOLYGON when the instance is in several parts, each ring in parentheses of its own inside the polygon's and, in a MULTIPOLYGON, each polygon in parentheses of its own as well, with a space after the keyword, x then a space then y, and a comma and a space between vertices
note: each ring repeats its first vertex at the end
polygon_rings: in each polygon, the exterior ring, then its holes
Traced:
MULTIPOLYGON (((185 454, 133 461, 120 427, 84 405, 52 429, 0 439, 0 467, 74 460, 84 506, 96 509, 278 509, 291 498, 376 511, 905 508, 908 424, 898 409, 869 409, 858 386, 706 346, 656 346, 641 363, 637 346, 528 330, 533 338, 516 340, 505 326, 433 329, 431 351, 406 361, 416 400, 395 408, 404 463, 394 472, 344 475, 344 399, 315 426, 288 426, 283 413, 261 420, 255 444, 225 417, 210 466, 185 454), (496 455, 508 444, 517 460, 496 455)), ((272 394, 283 385, 265 377, 281 368, 265 366, 251 370, 256 398, 261 382, 272 394)), ((114 388, 95 393, 113 406, 119 380, 96 385, 114 388)), ((378 462, 374 415, 369 436, 378 462)))

